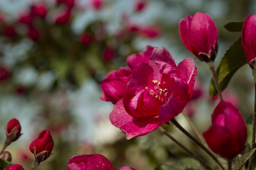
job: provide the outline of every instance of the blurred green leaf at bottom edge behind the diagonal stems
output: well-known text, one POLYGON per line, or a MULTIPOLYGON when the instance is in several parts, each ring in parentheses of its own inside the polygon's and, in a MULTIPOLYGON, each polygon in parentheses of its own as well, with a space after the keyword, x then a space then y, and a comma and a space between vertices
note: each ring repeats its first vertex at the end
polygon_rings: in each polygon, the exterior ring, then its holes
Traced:
POLYGON ((204 169, 200 163, 193 158, 183 158, 179 162, 172 165, 159 165, 155 170, 202 170, 204 169))

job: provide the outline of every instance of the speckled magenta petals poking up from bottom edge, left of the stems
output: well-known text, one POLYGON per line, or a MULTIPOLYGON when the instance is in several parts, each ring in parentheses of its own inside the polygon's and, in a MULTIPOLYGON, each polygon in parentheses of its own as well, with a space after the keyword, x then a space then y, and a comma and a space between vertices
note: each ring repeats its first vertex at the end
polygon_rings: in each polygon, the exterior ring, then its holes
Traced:
MULTIPOLYGON (((114 170, 111 162, 103 155, 75 155, 69 159, 67 170, 114 170)), ((130 167, 120 167, 119 170, 135 170, 130 167)))

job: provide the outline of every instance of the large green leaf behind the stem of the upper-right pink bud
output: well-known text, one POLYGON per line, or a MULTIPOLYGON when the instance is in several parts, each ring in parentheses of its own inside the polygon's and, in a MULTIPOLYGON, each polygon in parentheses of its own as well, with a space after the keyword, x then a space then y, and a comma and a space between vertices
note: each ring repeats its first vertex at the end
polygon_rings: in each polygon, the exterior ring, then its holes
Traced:
MULTIPOLYGON (((216 74, 221 91, 228 86, 234 73, 246 63, 247 61, 244 56, 241 38, 239 38, 239 40, 231 45, 229 50, 226 51, 217 68, 216 74)), ((217 90, 212 79, 209 86, 209 95, 213 98, 216 94, 217 90)))

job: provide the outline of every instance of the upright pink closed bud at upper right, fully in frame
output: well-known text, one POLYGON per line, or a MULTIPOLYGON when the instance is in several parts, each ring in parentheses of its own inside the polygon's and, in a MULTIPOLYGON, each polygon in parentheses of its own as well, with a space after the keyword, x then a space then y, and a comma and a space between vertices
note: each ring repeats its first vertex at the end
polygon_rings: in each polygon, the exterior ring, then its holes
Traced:
POLYGON ((218 30, 208 14, 197 12, 193 17, 186 15, 180 20, 179 29, 181 40, 191 53, 202 61, 215 59, 215 56, 212 55, 214 51, 211 50, 211 46, 217 51, 218 30), (209 57, 205 59, 205 55, 202 56, 199 53, 204 53, 209 57))

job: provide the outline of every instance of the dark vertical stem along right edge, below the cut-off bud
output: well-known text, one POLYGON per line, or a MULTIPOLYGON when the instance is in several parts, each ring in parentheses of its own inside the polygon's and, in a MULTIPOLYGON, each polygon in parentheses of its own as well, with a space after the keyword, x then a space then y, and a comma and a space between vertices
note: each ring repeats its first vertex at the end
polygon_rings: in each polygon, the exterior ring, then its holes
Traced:
MULTIPOLYGON (((256 131, 256 83, 254 83, 254 110, 253 110, 253 132, 252 132, 252 147, 251 150, 255 148, 255 131, 256 131)), ((255 153, 254 153, 255 154, 255 153)), ((252 170, 252 161, 254 156, 249 160, 249 170, 252 170)))

